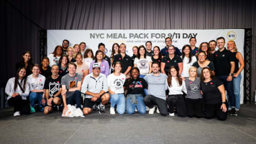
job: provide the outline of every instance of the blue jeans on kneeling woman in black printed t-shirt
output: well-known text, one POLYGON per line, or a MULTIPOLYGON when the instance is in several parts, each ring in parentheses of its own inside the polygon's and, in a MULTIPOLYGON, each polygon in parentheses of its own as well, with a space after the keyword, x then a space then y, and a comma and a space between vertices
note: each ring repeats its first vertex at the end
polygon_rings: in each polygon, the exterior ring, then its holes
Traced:
MULTIPOLYGON (((134 94, 136 95, 136 94, 134 94)), ((133 114, 135 112, 135 107, 137 107, 138 113, 145 114, 146 113, 146 105, 143 102, 143 97, 136 97, 137 105, 135 103, 131 103, 132 98, 127 98, 126 100, 126 111, 128 114, 133 114)))

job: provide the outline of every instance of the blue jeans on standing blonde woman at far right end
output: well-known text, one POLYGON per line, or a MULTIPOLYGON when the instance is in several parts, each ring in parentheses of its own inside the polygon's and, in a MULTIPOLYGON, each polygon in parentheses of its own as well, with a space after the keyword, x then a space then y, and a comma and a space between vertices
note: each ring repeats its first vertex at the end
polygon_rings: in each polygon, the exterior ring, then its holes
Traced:
POLYGON ((236 109, 240 108, 240 84, 241 84, 241 79, 242 79, 241 73, 238 75, 238 77, 233 78, 234 97, 236 98, 236 109))

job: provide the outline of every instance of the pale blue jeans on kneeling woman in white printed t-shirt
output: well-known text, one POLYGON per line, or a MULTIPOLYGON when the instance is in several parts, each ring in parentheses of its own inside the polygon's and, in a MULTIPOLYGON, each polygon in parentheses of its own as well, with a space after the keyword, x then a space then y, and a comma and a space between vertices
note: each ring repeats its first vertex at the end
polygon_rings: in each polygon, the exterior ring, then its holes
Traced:
POLYGON ((110 103, 112 108, 116 105, 116 111, 119 114, 124 114, 126 110, 126 98, 124 98, 124 94, 110 95, 110 103))

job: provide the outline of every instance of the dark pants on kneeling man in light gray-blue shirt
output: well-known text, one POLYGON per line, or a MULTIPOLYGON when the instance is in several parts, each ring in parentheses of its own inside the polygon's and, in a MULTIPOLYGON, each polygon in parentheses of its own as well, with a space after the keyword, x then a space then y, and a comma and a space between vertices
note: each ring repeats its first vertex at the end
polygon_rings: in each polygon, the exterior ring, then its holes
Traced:
POLYGON ((146 95, 146 97, 143 98, 143 101, 149 108, 153 108, 154 105, 157 105, 163 116, 168 114, 167 103, 162 98, 154 97, 153 95, 146 95))

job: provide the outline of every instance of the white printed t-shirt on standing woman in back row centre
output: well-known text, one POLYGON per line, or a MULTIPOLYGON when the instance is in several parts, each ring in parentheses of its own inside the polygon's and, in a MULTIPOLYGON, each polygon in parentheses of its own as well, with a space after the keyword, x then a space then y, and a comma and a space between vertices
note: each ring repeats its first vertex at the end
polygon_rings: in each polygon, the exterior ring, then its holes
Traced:
POLYGON ((137 65, 138 70, 140 70, 140 74, 148 74, 150 72, 150 64, 152 62, 151 57, 146 56, 146 58, 137 57, 134 60, 134 64, 137 65))

